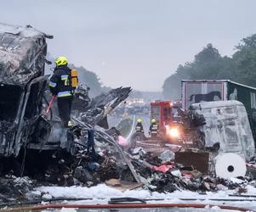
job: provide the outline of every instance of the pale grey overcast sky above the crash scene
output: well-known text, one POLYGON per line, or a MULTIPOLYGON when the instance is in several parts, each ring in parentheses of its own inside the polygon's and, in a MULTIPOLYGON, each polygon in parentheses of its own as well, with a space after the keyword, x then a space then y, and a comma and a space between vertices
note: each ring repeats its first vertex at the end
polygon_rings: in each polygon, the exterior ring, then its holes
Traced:
POLYGON ((54 35, 48 51, 99 75, 105 86, 161 91, 207 43, 234 53, 256 33, 254 0, 1 0, 0 22, 54 35))

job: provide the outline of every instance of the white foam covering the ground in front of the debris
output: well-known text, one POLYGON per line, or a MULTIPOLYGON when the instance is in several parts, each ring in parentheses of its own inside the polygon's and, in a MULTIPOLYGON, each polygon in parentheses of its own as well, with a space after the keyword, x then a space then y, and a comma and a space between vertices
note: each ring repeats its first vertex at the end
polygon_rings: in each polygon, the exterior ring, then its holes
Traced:
MULTIPOLYGON (((256 188, 248 185, 247 194, 255 195, 256 188)), ((75 201, 76 204, 107 204, 110 198, 142 198, 152 199, 161 198, 161 201, 151 200, 148 203, 194 203, 194 204, 218 204, 218 205, 231 205, 236 207, 244 207, 247 209, 256 209, 256 201, 213 201, 209 198, 225 198, 225 199, 241 199, 242 197, 230 197, 229 194, 234 194, 234 190, 219 191, 219 192, 206 192, 202 195, 197 192, 191 191, 175 191, 168 193, 149 192, 145 189, 137 189, 132 191, 121 192, 115 188, 107 187, 105 184, 100 184, 96 187, 37 187, 37 191, 46 192, 53 198, 93 198, 90 200, 75 201), (190 200, 185 201, 180 198, 203 198, 205 200, 190 200)), ((252 199, 252 198, 247 198, 252 199)), ((255 198, 253 198, 255 199, 255 198)), ((72 201, 73 203, 74 201, 72 201)))

